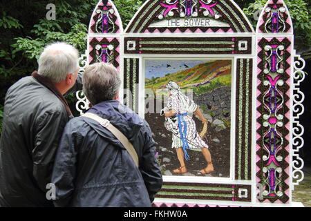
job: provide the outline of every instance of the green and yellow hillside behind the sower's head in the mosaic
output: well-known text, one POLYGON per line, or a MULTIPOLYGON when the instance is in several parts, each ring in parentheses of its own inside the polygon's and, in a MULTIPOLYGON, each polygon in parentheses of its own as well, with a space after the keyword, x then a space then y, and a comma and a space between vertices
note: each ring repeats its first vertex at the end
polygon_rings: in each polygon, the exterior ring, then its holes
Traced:
POLYGON ((231 60, 213 60, 164 77, 145 79, 145 88, 153 90, 155 94, 165 94, 161 89, 164 89, 169 81, 176 81, 180 88, 191 88, 194 93, 201 94, 220 86, 231 86, 231 74, 231 60))

